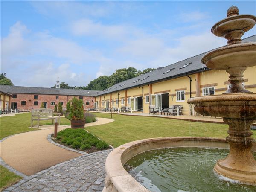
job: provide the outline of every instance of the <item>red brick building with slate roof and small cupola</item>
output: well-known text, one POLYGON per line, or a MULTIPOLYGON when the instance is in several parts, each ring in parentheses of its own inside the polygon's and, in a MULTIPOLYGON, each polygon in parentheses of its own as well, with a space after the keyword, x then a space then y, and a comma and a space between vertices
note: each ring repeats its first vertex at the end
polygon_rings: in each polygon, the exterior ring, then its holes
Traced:
POLYGON ((38 109, 41 107, 41 103, 44 104, 45 108, 54 109, 55 104, 58 104, 59 102, 63 104, 63 108, 65 109, 67 102, 73 97, 83 100, 84 109, 94 108, 95 96, 102 92, 97 90, 21 87, 10 85, 0 85, 0 91, 12 95, 12 97, 9 98, 8 105, 3 105, 6 106, 5 108, 21 110, 38 109))

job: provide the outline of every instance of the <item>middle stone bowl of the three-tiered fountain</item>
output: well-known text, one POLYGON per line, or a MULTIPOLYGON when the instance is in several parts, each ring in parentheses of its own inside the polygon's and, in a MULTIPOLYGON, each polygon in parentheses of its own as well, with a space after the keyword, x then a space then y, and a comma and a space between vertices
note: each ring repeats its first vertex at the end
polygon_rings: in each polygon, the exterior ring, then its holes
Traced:
POLYGON ((256 43, 238 43, 205 54, 201 61, 210 69, 226 70, 232 67, 252 67, 256 61, 256 43))

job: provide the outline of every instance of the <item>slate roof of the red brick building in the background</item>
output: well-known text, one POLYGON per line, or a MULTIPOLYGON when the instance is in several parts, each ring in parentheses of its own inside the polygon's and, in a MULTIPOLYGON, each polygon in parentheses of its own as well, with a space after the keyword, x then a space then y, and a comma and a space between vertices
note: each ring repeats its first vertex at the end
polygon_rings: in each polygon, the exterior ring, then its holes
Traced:
POLYGON ((0 85, 0 91, 7 92, 7 93, 72 95, 72 96, 97 96, 102 92, 98 90, 56 89, 56 88, 46 88, 46 87, 21 87, 21 86, 11 86, 11 85, 0 85))

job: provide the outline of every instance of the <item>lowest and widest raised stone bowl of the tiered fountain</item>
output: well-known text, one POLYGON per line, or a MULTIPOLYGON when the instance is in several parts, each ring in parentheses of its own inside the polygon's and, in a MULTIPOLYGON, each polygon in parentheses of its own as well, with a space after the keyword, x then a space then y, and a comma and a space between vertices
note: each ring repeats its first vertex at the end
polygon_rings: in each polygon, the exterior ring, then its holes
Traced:
POLYGON ((207 116, 236 119, 255 119, 256 94, 236 93, 211 96, 196 96, 188 100, 195 111, 207 116))

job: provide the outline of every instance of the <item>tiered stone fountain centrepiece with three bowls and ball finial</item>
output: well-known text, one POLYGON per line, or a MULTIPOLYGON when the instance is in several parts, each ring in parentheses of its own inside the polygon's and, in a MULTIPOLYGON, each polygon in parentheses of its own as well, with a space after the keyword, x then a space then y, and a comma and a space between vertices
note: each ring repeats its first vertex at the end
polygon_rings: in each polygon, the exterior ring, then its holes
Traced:
POLYGON ((212 33, 226 38, 227 45, 214 49, 202 57, 209 69, 226 70, 229 73, 230 88, 221 95, 197 96, 188 100, 195 111, 210 116, 223 117, 229 125, 226 141, 230 153, 218 160, 214 170, 224 177, 256 184, 256 161, 252 146, 250 125, 256 122, 256 94, 246 90, 242 83, 247 67, 256 65, 256 43, 241 43, 244 32, 253 28, 256 17, 239 15, 239 9, 231 6, 227 18, 212 27, 212 33))

